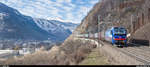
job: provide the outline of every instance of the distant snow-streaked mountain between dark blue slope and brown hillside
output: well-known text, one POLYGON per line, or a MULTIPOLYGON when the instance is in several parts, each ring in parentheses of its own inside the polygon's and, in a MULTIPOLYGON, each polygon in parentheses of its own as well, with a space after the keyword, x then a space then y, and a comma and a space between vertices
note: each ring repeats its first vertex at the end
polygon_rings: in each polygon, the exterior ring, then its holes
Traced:
POLYGON ((54 21, 54 20, 34 19, 34 21, 41 29, 47 31, 48 33, 53 34, 58 39, 62 39, 62 40, 65 40, 70 34, 72 34, 71 32, 72 29, 68 27, 73 27, 73 26, 74 28, 76 27, 75 24, 67 26, 68 25, 67 23, 54 21))

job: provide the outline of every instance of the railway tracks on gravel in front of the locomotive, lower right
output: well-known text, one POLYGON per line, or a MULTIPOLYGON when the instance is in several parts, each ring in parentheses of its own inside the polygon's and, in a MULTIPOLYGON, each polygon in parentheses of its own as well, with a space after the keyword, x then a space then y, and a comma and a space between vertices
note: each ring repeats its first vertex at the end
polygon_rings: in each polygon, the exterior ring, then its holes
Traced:
POLYGON ((137 61, 142 62, 144 65, 150 65, 150 52, 145 50, 143 47, 113 48, 116 48, 118 51, 121 51, 122 53, 135 58, 137 61))

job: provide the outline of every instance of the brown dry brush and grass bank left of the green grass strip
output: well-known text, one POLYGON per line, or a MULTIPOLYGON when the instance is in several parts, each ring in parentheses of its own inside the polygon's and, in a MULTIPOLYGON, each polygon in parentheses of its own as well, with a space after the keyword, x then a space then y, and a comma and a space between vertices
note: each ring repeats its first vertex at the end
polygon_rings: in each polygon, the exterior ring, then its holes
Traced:
POLYGON ((75 65, 80 63, 93 49, 90 42, 69 40, 64 45, 53 46, 50 51, 41 49, 23 57, 14 57, 1 62, 2 65, 75 65))

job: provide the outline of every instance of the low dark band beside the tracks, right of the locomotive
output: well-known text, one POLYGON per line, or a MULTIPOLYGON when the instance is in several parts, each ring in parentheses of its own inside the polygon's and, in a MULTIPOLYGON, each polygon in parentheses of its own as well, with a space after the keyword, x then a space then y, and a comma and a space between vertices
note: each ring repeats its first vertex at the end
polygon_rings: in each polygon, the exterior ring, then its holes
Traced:
POLYGON ((149 40, 131 39, 127 45, 128 47, 149 46, 149 40))

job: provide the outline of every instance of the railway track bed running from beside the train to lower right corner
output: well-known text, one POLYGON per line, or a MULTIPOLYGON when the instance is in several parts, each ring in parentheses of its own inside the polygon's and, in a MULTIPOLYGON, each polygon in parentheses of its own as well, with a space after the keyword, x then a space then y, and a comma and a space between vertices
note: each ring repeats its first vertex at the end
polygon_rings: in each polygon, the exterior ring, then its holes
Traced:
MULTIPOLYGON (((98 41, 98 39, 94 39, 98 41)), ((115 48, 117 51, 120 51, 137 61, 143 63, 144 65, 150 65, 150 48, 148 46, 136 46, 137 44, 129 44, 129 45, 134 45, 134 46, 129 46, 129 47, 123 47, 123 48, 118 48, 116 46, 112 46, 110 43, 103 42, 103 41, 98 41, 101 42, 102 45, 109 45, 112 48, 115 48)))

